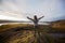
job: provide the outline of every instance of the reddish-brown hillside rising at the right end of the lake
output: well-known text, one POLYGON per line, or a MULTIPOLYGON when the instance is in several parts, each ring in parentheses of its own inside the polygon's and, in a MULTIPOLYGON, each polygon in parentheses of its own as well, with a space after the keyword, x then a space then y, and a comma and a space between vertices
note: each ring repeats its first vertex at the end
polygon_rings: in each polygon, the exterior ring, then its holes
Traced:
POLYGON ((52 28, 65 29, 65 19, 51 22, 50 26, 52 28))

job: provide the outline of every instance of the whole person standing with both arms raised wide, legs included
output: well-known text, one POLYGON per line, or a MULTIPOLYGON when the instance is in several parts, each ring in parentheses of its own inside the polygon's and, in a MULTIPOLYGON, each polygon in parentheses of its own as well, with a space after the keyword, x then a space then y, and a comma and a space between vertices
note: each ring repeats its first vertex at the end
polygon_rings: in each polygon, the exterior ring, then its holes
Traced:
MULTIPOLYGON (((41 16, 41 17, 37 18, 37 15, 35 15, 35 16, 34 16, 34 19, 32 19, 32 18, 30 18, 30 17, 27 16, 28 19, 30 19, 30 20, 34 22, 34 26, 35 26, 35 38, 36 38, 36 30, 37 30, 37 27, 38 27, 38 22, 39 22, 42 17, 44 17, 44 16, 41 16)), ((38 32, 38 35, 40 37, 40 32, 39 32, 38 30, 37 30, 37 32, 38 32)), ((38 42, 40 43, 40 40, 38 40, 38 42)))

